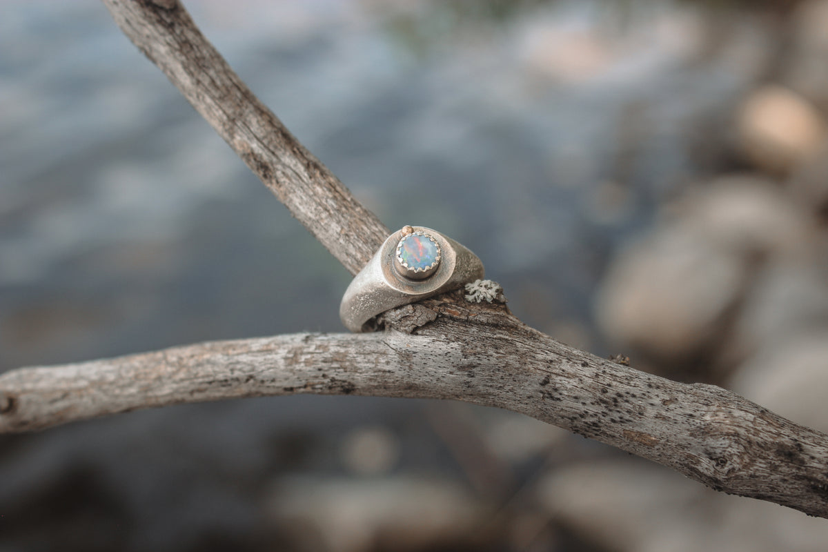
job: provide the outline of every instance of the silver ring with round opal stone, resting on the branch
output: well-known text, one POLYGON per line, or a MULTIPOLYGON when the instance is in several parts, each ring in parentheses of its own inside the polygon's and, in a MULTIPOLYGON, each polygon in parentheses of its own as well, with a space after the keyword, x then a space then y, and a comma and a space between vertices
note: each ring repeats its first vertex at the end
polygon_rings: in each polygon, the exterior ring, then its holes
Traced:
POLYGON ((339 318, 352 332, 372 329, 378 314, 456 290, 482 279, 483 262, 469 249, 421 226, 405 226, 392 233, 368 264, 354 276, 339 318))

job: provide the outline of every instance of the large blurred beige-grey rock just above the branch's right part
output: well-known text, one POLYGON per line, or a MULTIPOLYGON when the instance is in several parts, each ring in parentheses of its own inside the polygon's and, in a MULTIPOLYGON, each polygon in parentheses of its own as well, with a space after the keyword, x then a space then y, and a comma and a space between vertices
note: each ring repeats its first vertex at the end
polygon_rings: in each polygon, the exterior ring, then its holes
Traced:
POLYGON ((744 273, 738 257, 663 228, 615 260, 599 292, 599 324, 622 346, 664 361, 684 357, 719 333, 744 273))

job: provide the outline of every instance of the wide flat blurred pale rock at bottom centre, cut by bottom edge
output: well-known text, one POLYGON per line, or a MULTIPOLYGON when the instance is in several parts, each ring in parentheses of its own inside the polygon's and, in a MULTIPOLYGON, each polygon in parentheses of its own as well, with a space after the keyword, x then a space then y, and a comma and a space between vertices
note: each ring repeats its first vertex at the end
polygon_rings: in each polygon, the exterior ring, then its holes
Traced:
POLYGON ((491 517, 456 482, 423 478, 297 478, 274 487, 267 511, 291 534, 296 550, 315 552, 435 550, 460 543, 474 550, 475 535, 491 517))

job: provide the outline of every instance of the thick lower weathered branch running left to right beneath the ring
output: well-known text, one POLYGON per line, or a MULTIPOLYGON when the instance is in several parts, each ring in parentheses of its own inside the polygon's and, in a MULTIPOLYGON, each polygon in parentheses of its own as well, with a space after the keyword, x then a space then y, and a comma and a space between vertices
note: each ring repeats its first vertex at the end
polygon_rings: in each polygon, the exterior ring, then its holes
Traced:
POLYGON ((425 305, 438 316, 416 334, 294 334, 7 372, 0 390, 11 407, 0 432, 248 396, 456 399, 544 420, 720 491, 828 517, 828 435, 720 387, 567 347, 503 307, 473 308, 459 292, 425 305))

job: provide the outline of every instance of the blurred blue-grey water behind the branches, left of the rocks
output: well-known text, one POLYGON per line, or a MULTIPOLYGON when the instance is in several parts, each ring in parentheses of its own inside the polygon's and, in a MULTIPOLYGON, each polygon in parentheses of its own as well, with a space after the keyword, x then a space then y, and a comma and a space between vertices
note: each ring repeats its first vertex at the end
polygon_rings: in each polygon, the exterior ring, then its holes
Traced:
MULTIPOLYGON (((599 353, 590 298, 605 263, 653 204, 710 170, 702 131, 749 78, 699 63, 692 20, 663 3, 615 26, 599 2, 556 2, 425 46, 385 2, 191 3, 253 91, 389 227, 465 243, 522 319, 599 353)), ((407 9, 415 30, 441 21, 407 9)), ((102 6, 4 2, 0 370, 341 331, 348 281, 102 6)), ((409 427, 412 450, 436 449, 410 429, 425 407, 292 397, 5 438, 0 505, 21 524, 10 542, 39 542, 26 524, 38 500, 63 496, 49 491, 62 477, 99 489, 87 506, 117 503, 89 518, 128 520, 135 550, 181 547, 215 523, 244 532, 254 489, 286 469, 279 443, 301 434, 317 443, 301 469, 335 469, 342 428, 382 416, 409 427), (189 521, 171 526, 172 511, 189 521)))

